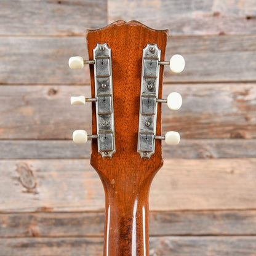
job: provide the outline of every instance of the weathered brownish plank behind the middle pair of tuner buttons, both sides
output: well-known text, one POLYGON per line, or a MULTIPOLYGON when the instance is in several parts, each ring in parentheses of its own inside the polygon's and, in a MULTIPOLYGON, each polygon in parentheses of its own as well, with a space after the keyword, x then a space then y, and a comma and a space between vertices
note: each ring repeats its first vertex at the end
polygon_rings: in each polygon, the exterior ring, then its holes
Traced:
MULTIPOLYGON (((71 139, 73 130, 90 132, 90 103, 70 105, 71 95, 90 95, 88 86, 0 86, 0 90, 1 139, 71 139)), ((163 105, 163 134, 177 130, 182 138, 256 138, 256 84, 166 84, 163 97, 173 91, 182 94, 183 106, 170 111, 163 105)), ((84 145, 73 147, 88 152, 84 145)))

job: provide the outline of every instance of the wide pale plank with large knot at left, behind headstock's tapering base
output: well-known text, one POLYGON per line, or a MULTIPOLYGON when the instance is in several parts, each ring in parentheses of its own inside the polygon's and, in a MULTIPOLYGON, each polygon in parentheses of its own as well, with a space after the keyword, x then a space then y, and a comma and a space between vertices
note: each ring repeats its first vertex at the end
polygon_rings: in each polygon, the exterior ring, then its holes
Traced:
MULTIPOLYGON (((150 209, 256 209, 255 165, 256 159, 167 159, 153 180, 150 209)), ((104 209, 88 160, 4 160, 0 170, 1 212, 104 209)))

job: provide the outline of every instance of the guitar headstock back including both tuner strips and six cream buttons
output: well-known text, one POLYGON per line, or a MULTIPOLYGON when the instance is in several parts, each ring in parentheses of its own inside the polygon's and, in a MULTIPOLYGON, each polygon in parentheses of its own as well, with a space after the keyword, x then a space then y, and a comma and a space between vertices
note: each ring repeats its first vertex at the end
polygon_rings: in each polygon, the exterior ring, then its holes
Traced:
POLYGON ((90 162, 108 181, 121 173, 153 177, 162 166, 161 140, 180 140, 177 132, 161 135, 161 103, 172 110, 182 105, 177 93, 161 98, 163 65, 177 73, 185 66, 180 55, 163 61, 166 43, 167 30, 118 21, 87 31, 89 60, 70 58, 70 68, 90 64, 92 92, 91 98, 71 97, 72 105, 92 103, 92 135, 76 130, 73 140, 92 138, 90 162))

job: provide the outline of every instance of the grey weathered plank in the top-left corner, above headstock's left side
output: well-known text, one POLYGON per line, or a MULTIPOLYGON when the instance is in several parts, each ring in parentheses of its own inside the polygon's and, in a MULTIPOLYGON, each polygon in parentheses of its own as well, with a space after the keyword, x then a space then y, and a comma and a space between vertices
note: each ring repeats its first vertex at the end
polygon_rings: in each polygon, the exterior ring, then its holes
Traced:
POLYGON ((106 22, 106 0, 1 1, 0 35, 74 36, 106 22))

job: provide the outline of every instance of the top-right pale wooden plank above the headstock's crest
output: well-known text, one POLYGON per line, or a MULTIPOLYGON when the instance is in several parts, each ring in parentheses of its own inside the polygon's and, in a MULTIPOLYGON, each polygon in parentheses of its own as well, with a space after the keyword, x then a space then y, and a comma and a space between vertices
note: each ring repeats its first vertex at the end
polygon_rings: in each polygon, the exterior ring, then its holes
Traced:
POLYGON ((252 34, 255 0, 109 0, 108 21, 139 20, 174 34, 252 34))

